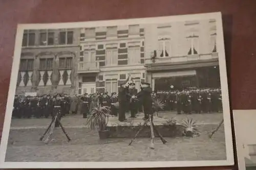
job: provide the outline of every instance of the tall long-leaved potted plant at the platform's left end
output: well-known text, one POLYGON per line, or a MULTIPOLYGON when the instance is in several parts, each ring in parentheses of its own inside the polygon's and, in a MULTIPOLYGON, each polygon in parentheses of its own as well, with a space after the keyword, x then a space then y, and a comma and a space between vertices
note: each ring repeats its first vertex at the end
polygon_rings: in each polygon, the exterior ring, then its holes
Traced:
POLYGON ((109 135, 106 125, 109 122, 110 107, 94 107, 91 111, 91 116, 88 118, 86 126, 89 129, 99 132, 99 138, 105 139, 109 135))

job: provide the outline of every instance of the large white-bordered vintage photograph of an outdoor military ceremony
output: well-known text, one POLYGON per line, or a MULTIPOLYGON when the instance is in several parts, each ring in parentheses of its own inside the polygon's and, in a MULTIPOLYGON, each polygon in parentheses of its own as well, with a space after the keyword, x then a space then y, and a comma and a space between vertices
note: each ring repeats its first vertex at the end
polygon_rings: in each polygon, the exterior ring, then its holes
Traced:
POLYGON ((17 26, 3 168, 233 165, 222 15, 17 26))

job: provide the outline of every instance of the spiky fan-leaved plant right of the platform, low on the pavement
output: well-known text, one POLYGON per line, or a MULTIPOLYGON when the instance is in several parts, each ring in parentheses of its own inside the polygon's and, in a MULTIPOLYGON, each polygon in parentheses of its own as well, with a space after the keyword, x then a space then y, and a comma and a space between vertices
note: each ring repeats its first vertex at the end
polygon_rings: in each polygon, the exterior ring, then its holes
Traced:
POLYGON ((194 135, 199 135, 199 130, 197 127, 197 121, 193 118, 186 118, 182 120, 181 125, 183 126, 183 135, 192 137, 194 135))

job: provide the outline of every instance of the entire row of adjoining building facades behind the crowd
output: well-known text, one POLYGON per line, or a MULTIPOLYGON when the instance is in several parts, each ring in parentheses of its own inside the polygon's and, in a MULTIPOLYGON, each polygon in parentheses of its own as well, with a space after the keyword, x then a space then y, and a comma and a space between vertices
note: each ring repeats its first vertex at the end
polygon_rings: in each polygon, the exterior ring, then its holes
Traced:
POLYGON ((26 30, 16 93, 112 93, 129 75, 138 90, 219 87, 217 36, 215 20, 26 30))

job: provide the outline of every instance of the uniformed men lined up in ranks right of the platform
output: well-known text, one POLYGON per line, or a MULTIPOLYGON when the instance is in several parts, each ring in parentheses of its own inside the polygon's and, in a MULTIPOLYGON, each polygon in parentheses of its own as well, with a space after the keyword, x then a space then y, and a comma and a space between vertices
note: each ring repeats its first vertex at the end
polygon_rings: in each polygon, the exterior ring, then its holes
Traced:
POLYGON ((220 88, 158 91, 152 96, 165 104, 164 111, 177 111, 178 114, 222 112, 220 88))

